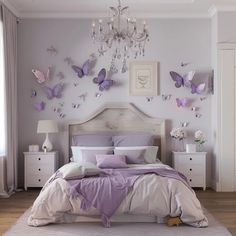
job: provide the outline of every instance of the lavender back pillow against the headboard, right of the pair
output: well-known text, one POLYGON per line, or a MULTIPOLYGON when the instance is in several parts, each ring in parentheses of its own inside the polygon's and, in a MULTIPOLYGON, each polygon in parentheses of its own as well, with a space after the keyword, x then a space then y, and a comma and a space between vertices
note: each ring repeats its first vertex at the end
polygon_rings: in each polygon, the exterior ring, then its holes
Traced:
POLYGON ((154 136, 150 134, 119 135, 113 136, 112 141, 115 147, 152 146, 154 136))

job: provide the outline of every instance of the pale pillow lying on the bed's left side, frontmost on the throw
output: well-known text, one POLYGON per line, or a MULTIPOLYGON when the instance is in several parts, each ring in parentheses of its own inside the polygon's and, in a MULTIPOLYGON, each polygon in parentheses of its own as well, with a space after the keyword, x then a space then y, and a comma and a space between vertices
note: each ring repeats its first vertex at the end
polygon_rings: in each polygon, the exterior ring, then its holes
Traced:
POLYGON ((59 171, 62 173, 64 179, 83 178, 85 176, 98 175, 101 170, 89 162, 71 162, 62 166, 59 171))

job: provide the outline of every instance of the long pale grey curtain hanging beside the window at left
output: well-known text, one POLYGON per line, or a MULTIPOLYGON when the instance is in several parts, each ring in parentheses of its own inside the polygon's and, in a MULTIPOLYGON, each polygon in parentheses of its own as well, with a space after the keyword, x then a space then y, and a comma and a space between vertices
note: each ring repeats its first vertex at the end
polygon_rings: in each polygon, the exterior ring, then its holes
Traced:
POLYGON ((17 18, 4 5, 2 9, 6 98, 6 191, 17 188, 17 18))

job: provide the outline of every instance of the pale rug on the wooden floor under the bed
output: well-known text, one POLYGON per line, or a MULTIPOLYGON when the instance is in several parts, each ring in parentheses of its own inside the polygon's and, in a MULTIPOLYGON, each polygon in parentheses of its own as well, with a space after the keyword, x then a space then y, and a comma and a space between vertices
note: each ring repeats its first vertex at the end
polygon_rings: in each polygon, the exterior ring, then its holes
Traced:
POLYGON ((27 226, 29 210, 26 211, 4 236, 229 236, 229 231, 206 212, 208 228, 190 226, 168 227, 155 223, 113 223, 103 228, 100 223, 52 224, 43 227, 27 226))

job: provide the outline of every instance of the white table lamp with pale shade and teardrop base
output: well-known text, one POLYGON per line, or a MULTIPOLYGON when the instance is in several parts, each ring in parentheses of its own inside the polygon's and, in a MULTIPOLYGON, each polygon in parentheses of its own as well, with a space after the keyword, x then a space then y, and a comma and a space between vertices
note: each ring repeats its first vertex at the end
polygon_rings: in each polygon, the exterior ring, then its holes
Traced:
POLYGON ((54 120, 39 120, 37 133, 45 133, 46 139, 42 145, 42 149, 46 152, 50 152, 53 148, 51 141, 49 140, 49 133, 57 133, 58 126, 54 120))

